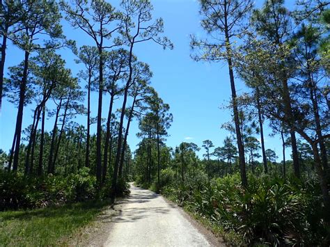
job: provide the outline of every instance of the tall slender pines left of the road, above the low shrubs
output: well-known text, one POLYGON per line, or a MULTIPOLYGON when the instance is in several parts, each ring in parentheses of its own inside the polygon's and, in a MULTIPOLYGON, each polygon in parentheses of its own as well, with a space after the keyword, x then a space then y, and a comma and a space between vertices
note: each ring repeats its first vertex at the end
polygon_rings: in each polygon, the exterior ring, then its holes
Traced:
MULTIPOLYGON (((162 36, 163 20, 152 17, 152 8, 150 1, 132 0, 121 1, 118 8, 103 0, 1 1, 0 99, 6 97, 17 106, 13 144, 8 154, 1 154, 3 169, 42 176, 77 173, 85 166, 99 186, 109 178, 116 194, 118 180, 124 180, 125 166, 128 170, 132 160, 127 143, 130 122, 149 109, 155 109, 156 115, 168 109, 150 86, 148 64, 134 55, 137 44, 173 47, 162 36), (63 21, 93 45, 77 47, 68 40, 63 21), (22 63, 13 67, 6 67, 9 42, 24 51, 22 63), (72 52, 84 70, 72 74, 59 49, 72 52), (97 92, 95 115, 93 91, 97 92), (104 97, 109 98, 108 106, 104 97), (122 106, 116 111, 113 103, 118 100, 122 106), (29 108, 31 125, 22 129, 29 108), (102 109, 108 109, 107 115, 102 109), (74 121, 78 115, 86 116, 86 124, 74 121), (47 121, 52 129, 45 128, 47 121)), ((163 131, 159 123, 159 139, 163 131)))

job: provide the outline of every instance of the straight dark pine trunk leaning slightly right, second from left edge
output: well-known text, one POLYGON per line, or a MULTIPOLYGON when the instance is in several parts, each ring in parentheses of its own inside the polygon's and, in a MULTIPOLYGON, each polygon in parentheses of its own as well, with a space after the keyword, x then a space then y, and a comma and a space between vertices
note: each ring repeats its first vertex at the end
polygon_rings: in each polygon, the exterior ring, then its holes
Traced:
POLYGON ((13 161, 13 170, 17 170, 18 161, 19 161, 19 148, 21 144, 21 134, 22 134, 22 122, 23 122, 23 109, 24 109, 24 101, 25 101, 25 92, 26 92, 26 82, 28 77, 28 67, 29 67, 29 51, 25 51, 24 55, 24 70, 22 76, 22 83, 19 88, 19 104, 17 111, 17 119, 16 119, 16 143, 15 143, 15 152, 14 152, 14 161, 13 161))

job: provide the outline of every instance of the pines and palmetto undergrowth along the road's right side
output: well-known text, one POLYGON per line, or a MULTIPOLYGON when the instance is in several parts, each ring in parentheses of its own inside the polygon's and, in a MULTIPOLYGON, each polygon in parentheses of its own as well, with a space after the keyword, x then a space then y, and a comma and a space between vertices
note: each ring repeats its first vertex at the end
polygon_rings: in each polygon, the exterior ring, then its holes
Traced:
POLYGON ((224 107, 233 119, 221 123, 228 136, 221 147, 205 140, 173 149, 157 138, 157 121, 143 118, 136 183, 230 244, 329 246, 329 3, 206 0, 200 7, 207 38, 191 35, 191 57, 228 65, 224 107), (239 95, 237 79, 247 87, 239 95), (280 161, 267 148, 265 126, 281 138, 280 161))

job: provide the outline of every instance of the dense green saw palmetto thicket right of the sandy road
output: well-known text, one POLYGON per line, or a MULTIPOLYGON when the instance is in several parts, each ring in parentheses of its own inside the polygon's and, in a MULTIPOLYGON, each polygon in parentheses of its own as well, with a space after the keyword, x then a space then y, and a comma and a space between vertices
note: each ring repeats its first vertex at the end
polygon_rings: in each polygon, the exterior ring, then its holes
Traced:
POLYGON ((320 186, 314 180, 251 175, 245 190, 235 173, 210 184, 191 180, 168 185, 163 193, 226 232, 236 232, 246 244, 315 246, 327 235, 320 186))

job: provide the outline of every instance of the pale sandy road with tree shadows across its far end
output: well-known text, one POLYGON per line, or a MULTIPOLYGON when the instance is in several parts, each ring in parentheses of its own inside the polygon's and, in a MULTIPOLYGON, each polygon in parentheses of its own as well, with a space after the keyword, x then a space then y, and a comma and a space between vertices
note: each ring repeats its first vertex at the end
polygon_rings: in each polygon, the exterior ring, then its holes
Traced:
POLYGON ((210 246, 179 209, 133 185, 121 214, 112 221, 105 246, 210 246))

